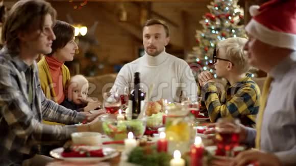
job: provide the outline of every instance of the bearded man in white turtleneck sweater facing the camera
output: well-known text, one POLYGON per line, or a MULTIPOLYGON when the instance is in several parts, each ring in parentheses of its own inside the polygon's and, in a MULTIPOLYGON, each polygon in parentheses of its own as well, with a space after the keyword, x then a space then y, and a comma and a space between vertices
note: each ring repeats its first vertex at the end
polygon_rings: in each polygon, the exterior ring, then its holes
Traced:
POLYGON ((197 96, 197 86, 189 65, 165 52, 169 42, 169 30, 160 20, 148 20, 143 27, 143 57, 124 65, 119 71, 112 91, 116 88, 133 89, 134 73, 140 73, 141 88, 147 92, 154 84, 151 101, 161 98, 180 102, 180 96, 197 96))

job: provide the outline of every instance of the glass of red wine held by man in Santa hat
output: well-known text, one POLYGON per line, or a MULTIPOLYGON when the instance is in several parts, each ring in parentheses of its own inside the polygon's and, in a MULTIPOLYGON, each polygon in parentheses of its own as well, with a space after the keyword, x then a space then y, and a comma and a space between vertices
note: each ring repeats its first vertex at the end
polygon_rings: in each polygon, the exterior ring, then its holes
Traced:
POLYGON ((239 145, 239 119, 220 118, 215 127, 217 152, 220 155, 234 156, 233 148, 239 145))

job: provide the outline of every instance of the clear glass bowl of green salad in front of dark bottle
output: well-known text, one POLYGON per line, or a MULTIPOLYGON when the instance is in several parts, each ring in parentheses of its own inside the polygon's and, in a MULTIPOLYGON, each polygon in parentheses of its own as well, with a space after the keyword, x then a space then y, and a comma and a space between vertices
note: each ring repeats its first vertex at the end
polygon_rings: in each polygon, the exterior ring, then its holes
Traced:
POLYGON ((133 132, 135 137, 143 136, 146 129, 146 118, 117 121, 114 118, 103 120, 103 131, 115 141, 125 140, 129 132, 133 132))

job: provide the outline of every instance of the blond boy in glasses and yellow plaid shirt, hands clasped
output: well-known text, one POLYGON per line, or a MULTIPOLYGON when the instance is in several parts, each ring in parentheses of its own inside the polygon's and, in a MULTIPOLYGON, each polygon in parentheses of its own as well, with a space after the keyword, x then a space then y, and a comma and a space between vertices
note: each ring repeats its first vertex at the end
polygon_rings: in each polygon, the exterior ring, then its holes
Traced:
POLYGON ((243 38, 229 38, 220 41, 213 53, 216 74, 225 77, 230 84, 226 94, 218 95, 216 83, 209 71, 199 75, 205 104, 211 122, 218 118, 238 118, 243 125, 253 126, 259 110, 260 89, 251 79, 243 46, 243 38))

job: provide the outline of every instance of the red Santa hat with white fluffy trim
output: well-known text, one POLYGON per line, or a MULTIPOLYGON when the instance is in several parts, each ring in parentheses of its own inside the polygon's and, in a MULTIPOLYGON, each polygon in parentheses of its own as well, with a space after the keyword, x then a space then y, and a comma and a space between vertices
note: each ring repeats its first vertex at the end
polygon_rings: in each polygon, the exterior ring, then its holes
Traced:
POLYGON ((245 30, 269 45, 296 50, 296 0, 273 0, 251 6, 245 30))

